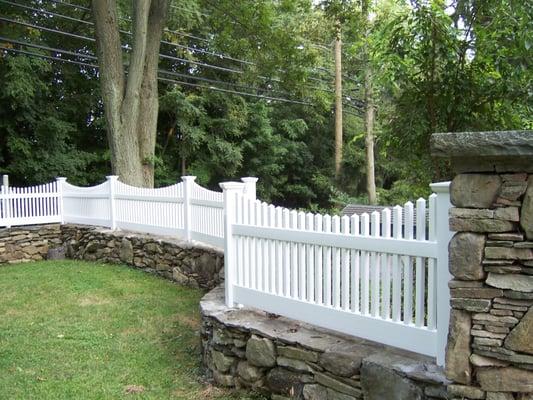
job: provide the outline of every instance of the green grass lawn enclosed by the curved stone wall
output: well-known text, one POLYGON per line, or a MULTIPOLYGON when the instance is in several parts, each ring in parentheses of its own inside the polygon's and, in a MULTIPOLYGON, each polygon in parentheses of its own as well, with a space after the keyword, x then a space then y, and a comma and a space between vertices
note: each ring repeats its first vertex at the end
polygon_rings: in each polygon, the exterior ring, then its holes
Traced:
POLYGON ((124 266, 0 267, 0 398, 249 398, 202 383, 201 296, 124 266))

